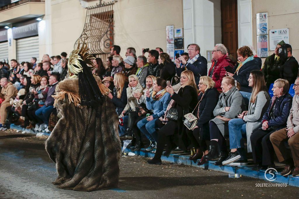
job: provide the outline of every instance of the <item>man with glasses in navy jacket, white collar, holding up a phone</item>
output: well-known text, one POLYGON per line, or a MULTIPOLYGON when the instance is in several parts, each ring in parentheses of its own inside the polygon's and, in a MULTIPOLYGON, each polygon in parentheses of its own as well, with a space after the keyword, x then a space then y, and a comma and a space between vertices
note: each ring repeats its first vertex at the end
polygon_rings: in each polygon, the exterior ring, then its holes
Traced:
POLYGON ((207 75, 208 62, 207 59, 200 55, 200 48, 197 44, 190 44, 188 47, 189 60, 186 61, 182 56, 175 59, 176 74, 181 76, 184 70, 191 70, 195 77, 195 83, 198 85, 200 76, 207 75), (184 64, 182 67, 180 63, 184 64))

